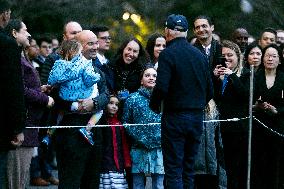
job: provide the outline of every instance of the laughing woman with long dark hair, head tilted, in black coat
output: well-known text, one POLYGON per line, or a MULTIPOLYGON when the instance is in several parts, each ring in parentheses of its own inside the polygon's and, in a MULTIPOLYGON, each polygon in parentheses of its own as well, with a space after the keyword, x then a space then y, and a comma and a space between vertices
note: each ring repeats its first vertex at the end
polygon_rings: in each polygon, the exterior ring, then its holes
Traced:
POLYGON ((125 99, 140 87, 140 73, 149 57, 141 42, 132 37, 125 40, 109 64, 102 67, 110 93, 125 99))

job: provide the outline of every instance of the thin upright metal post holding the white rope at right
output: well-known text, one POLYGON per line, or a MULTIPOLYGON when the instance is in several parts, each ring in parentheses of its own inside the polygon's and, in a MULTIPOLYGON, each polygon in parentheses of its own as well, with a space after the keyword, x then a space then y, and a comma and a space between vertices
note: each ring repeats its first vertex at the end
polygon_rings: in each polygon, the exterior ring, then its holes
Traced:
POLYGON ((251 136, 252 136, 252 120, 253 120, 253 117, 252 117, 253 78, 254 78, 254 66, 250 65, 247 189, 250 189, 250 173, 251 173, 251 136))

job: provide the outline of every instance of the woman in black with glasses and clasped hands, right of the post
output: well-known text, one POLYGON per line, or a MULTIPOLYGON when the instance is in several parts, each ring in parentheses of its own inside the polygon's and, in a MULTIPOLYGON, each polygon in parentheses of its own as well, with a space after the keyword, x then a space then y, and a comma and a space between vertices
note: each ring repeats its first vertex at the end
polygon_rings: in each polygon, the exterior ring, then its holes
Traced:
POLYGON ((283 137, 284 134, 284 73, 279 70, 283 63, 281 49, 271 44, 262 50, 261 60, 264 69, 255 76, 254 116, 262 124, 257 124, 259 132, 258 167, 261 173, 255 180, 256 188, 273 189, 283 185, 283 137), (272 129, 273 132, 270 129, 272 129), (282 177, 281 177, 282 176, 282 177), (282 182, 282 183, 281 183, 282 182))

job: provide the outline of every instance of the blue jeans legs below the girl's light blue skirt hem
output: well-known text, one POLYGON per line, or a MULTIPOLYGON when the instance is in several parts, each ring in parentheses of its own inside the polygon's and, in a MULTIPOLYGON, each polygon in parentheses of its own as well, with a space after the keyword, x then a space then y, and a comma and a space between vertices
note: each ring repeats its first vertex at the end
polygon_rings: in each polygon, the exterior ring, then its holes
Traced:
MULTIPOLYGON (((164 189, 164 175, 152 174, 152 189, 164 189)), ((145 174, 133 173, 133 189, 145 189, 145 174)))

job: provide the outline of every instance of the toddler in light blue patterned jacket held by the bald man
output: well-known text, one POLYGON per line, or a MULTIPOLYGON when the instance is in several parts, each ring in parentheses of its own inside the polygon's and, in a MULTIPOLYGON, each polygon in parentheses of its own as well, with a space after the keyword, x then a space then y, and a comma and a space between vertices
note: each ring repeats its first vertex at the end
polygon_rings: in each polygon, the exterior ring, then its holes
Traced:
MULTIPOLYGON (((59 85, 59 96, 66 101, 73 101, 71 111, 78 110, 78 99, 94 98, 98 96, 97 82, 100 74, 95 73, 92 61, 81 54, 82 45, 76 40, 63 41, 59 47, 61 59, 55 61, 49 74, 48 83, 59 85)), ((87 127, 79 131, 87 141, 93 145, 91 127, 102 116, 103 111, 96 112, 87 127)))

